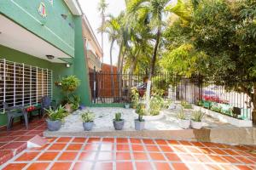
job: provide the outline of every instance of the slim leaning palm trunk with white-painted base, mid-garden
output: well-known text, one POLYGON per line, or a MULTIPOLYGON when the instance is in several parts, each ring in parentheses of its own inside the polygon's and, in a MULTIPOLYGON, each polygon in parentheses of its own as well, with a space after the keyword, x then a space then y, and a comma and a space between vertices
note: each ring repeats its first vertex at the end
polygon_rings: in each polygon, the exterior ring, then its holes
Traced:
POLYGON ((148 76, 148 83, 147 83, 148 85, 147 85, 147 90, 146 90, 146 112, 149 111, 151 78, 154 74, 154 65, 155 65, 155 61, 156 61, 158 46, 159 46, 159 43, 160 43, 160 35, 161 35, 161 30, 160 30, 160 27, 159 27, 158 30, 157 30, 157 34, 156 34, 156 42, 154 44, 154 53, 153 53, 153 56, 152 56, 150 70, 149 70, 149 76, 148 76))

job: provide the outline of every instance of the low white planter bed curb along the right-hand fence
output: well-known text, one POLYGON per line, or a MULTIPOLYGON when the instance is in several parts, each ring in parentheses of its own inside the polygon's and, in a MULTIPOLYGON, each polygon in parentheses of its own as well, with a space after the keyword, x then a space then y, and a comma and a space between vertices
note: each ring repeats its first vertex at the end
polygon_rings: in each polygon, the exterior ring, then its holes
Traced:
POLYGON ((211 111, 206 108, 203 108, 201 106, 194 105, 195 110, 201 110, 205 112, 208 116, 212 116, 214 118, 217 118, 220 122, 227 122, 232 125, 235 125, 236 127, 253 127, 253 122, 249 120, 241 120, 241 119, 236 119, 231 116, 225 116, 221 113, 218 113, 216 111, 211 111))

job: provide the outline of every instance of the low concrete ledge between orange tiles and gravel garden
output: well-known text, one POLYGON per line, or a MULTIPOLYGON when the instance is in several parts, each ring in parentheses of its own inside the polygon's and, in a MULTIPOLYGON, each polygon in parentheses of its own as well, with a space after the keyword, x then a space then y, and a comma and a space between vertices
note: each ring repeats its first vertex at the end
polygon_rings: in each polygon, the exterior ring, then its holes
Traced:
POLYGON ((44 132, 44 137, 61 136, 98 136, 98 137, 135 137, 154 139, 177 139, 221 144, 256 144, 255 127, 227 127, 214 129, 185 130, 143 130, 143 131, 108 131, 108 132, 44 132), (231 138, 230 138, 231 137, 231 138))

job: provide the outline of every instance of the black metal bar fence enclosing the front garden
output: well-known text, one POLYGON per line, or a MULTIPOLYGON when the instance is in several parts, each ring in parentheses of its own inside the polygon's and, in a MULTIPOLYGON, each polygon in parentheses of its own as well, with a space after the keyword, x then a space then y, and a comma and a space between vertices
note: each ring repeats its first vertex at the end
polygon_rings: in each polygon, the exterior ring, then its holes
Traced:
MULTIPOLYGON (((136 87, 140 97, 143 97, 147 81, 148 75, 145 74, 90 73, 92 103, 130 102, 129 94, 132 87, 136 87)), ((236 80, 230 79, 230 81, 236 80)), ((230 114, 234 107, 240 108, 244 119, 252 119, 253 105, 247 94, 227 90, 223 84, 219 85, 207 78, 185 78, 170 73, 158 73, 152 78, 151 90, 154 92, 156 89, 164 92, 164 98, 212 107, 215 111, 221 111, 222 108, 226 114, 230 114)))

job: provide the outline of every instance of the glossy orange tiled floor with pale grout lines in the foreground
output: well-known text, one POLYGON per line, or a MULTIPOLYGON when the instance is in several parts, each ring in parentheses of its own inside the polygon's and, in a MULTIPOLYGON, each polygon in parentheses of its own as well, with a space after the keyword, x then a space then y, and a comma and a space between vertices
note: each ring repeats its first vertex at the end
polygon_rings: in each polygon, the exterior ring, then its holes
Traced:
MULTIPOLYGON (((256 169, 256 147, 163 139, 52 138, 3 169, 256 169)), ((1 167, 0 167, 1 169, 1 167)))

